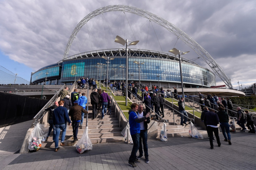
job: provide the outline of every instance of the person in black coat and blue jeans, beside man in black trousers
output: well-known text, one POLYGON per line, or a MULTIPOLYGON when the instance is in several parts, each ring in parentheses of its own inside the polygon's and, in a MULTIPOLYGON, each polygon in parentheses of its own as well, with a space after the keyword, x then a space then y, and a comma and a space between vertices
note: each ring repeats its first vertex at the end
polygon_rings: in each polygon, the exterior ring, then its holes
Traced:
POLYGON ((219 117, 219 126, 221 126, 221 130, 222 130, 222 134, 224 136, 224 141, 225 142, 229 142, 229 144, 231 145, 231 136, 230 136, 230 132, 229 132, 229 115, 227 115, 227 112, 224 111, 223 107, 219 107, 218 108, 218 117, 219 117), (227 136, 226 136, 226 133, 227 136))

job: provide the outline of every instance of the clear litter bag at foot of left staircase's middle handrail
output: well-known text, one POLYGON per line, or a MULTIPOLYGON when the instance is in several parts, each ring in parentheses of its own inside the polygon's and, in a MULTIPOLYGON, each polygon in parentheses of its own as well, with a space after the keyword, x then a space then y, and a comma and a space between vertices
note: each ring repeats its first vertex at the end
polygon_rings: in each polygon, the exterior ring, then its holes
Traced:
POLYGON ((77 152, 82 154, 85 151, 89 151, 93 149, 93 144, 91 144, 91 140, 88 136, 88 127, 85 128, 81 139, 77 143, 77 152))

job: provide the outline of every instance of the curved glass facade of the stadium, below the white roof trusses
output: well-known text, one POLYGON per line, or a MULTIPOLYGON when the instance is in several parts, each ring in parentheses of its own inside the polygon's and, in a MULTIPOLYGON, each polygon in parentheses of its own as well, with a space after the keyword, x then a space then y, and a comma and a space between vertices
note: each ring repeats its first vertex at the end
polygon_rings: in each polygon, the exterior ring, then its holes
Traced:
MULTIPOLYGON (((70 60, 64 60, 62 68, 59 66, 44 68, 43 70, 37 71, 32 75, 32 82, 45 78, 46 72, 48 72, 47 79, 52 76, 60 75, 59 69, 61 69, 61 76, 59 77, 61 82, 73 82, 75 77, 88 77, 103 80, 106 78, 107 63, 106 60, 101 56, 113 57, 109 63, 109 79, 113 80, 125 80, 126 79, 126 68, 120 66, 126 65, 125 52, 120 53, 106 53, 98 54, 99 56, 75 58, 70 60), (98 68, 98 63, 102 63, 102 68, 98 68), (114 71, 113 69, 116 69, 114 71), (75 74, 77 73, 77 74, 75 74)), ((129 54, 128 57, 128 80, 138 81, 139 80, 139 68, 134 61, 144 62, 140 66, 140 79, 141 81, 160 81, 166 83, 181 83, 179 62, 172 59, 156 58, 155 54, 146 54, 134 52, 129 54), (151 57, 150 57, 151 55, 151 57), (131 57, 130 57, 131 56, 131 57), (140 56, 140 57, 139 57, 140 56), (158 77, 159 76, 159 77, 158 77)), ((51 65, 52 66, 52 65, 51 65)), ((204 86, 215 86, 215 75, 210 70, 200 67, 194 63, 182 62, 182 74, 183 82, 185 84, 204 85, 204 86)))

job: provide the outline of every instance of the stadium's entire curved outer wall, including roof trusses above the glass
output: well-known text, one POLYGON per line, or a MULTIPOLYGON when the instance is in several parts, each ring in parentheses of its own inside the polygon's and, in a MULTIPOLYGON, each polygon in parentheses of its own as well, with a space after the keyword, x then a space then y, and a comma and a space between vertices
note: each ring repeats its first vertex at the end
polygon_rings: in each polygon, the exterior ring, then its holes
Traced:
MULTIPOLYGON (((126 52, 123 49, 98 50, 76 54, 59 63, 43 67, 31 74, 31 83, 64 84, 72 83, 76 77, 106 79, 107 65, 97 68, 97 63, 106 64, 102 56, 114 58, 109 63, 109 80, 125 80, 126 73, 120 66, 125 66, 126 52), (116 69, 116 71, 114 71, 116 69), (77 74, 75 74, 77 73, 77 74), (102 74, 101 74, 102 73, 102 74)), ((134 61, 145 62, 141 65, 141 84, 161 84, 165 87, 181 86, 179 61, 177 56, 159 51, 130 49, 128 53, 128 80, 139 81, 138 65, 134 61), (159 77, 158 77, 159 76, 159 77)), ((182 58, 183 82, 186 87, 215 86, 215 74, 207 68, 199 66, 188 59, 182 58)))

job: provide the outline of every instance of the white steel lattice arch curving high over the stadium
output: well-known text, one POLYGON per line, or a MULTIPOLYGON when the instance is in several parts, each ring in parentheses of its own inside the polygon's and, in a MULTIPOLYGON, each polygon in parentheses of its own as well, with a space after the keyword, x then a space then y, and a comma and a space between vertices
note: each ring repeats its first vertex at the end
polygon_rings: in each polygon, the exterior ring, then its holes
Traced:
POLYGON ((72 45, 72 42, 75 39, 75 36, 81 29, 83 25, 85 25, 90 19, 94 18, 95 16, 99 14, 103 14, 105 12, 110 11, 124 11, 129 12, 132 14, 136 14, 138 16, 150 19, 151 21, 161 25, 162 27, 165 27, 168 31, 179 37, 185 44, 190 46, 191 49, 193 49, 199 57, 201 57, 214 71, 215 74, 219 76, 219 78, 222 79, 222 81, 231 89, 233 89, 231 82, 229 81, 229 78, 224 73, 223 69, 218 65, 218 63, 211 57, 211 55, 202 48, 201 45, 199 45, 195 40, 192 39, 189 35, 187 35, 185 32, 183 32, 181 29, 179 29, 177 26, 169 23, 167 20, 152 14, 151 12, 148 12, 143 9, 131 7, 131 6, 125 6, 125 5, 110 5, 106 7, 99 8, 90 14, 88 14, 85 18, 83 18, 78 25, 75 27, 74 31, 70 35, 69 41, 67 42, 66 49, 63 55, 63 59, 68 57, 70 47, 72 45))

